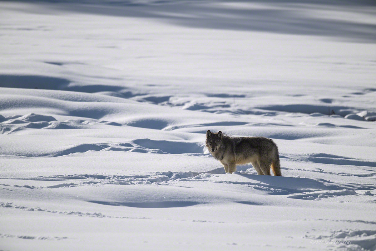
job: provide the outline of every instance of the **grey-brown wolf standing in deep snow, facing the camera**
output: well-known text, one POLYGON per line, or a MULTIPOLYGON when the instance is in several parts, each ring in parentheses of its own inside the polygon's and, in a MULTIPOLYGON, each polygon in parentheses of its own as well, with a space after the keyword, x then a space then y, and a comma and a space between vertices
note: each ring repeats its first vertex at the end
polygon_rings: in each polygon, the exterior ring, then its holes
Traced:
POLYGON ((230 137, 208 130, 206 147, 226 173, 235 172, 237 165, 252 163, 259 175, 270 175, 271 167, 274 176, 282 176, 278 147, 270 138, 230 137))

